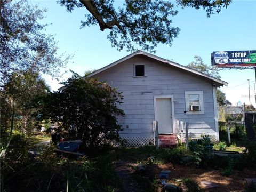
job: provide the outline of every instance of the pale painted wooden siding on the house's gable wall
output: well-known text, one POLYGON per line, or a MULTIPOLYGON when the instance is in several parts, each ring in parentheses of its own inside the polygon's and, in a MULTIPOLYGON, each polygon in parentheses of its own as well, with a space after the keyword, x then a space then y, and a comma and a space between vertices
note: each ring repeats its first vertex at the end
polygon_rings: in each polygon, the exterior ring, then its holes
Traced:
POLYGON ((137 55, 95 76, 124 95, 121 108, 126 116, 119 118, 123 137, 153 136, 154 96, 173 95, 175 119, 189 123, 191 134, 215 135, 213 89, 209 79, 195 76, 143 55, 137 55), (133 77, 133 66, 145 65, 146 77, 133 77), (203 91, 204 114, 186 115, 185 91, 203 91), (127 128, 128 127, 128 128, 127 128))

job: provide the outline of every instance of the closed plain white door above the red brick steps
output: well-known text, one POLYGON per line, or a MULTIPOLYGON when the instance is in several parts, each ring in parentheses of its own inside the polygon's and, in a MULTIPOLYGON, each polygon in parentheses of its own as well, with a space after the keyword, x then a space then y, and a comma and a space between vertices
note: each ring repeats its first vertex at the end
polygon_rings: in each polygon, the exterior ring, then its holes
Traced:
POLYGON ((155 98, 155 120, 158 122, 158 132, 173 133, 171 98, 155 98))

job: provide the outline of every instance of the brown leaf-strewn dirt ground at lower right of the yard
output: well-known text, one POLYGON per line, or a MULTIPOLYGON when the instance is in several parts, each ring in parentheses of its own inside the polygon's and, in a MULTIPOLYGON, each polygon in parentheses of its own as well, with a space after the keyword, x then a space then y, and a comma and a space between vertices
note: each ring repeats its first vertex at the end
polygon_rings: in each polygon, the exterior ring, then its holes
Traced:
MULTIPOLYGON (((145 189, 140 189, 136 182, 131 176, 136 170, 137 164, 130 162, 117 162, 115 164, 115 169, 117 174, 123 181, 123 189, 120 191, 147 191, 145 189)), ((200 169, 191 165, 173 165, 172 163, 164 165, 151 165, 148 166, 146 171, 147 177, 154 178, 159 175, 161 170, 170 170, 170 183, 178 184, 177 180, 191 178, 198 182, 200 181, 211 181, 218 185, 218 187, 211 189, 204 189, 204 191, 244 191, 245 180, 244 178, 255 178, 256 171, 245 169, 243 171, 234 171, 233 175, 230 177, 225 177, 221 174, 220 170, 213 169, 200 169)), ((203 187, 203 186, 202 186, 203 187)))

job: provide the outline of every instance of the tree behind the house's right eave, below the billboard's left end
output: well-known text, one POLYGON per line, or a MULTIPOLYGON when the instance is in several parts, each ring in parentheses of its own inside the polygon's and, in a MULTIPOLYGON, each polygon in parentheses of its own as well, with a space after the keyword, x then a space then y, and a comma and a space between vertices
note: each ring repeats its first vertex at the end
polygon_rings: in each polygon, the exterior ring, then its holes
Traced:
MULTIPOLYGON (((195 61, 190 62, 187 67, 196 69, 200 72, 203 72, 207 75, 211 75, 215 78, 221 78, 218 71, 216 69, 213 69, 211 66, 207 65, 204 63, 203 59, 195 55, 195 61)), ((220 89, 216 90, 216 97, 217 97, 217 102, 219 106, 225 106, 225 105, 231 105, 231 103, 226 99, 225 93, 223 93, 220 89)))

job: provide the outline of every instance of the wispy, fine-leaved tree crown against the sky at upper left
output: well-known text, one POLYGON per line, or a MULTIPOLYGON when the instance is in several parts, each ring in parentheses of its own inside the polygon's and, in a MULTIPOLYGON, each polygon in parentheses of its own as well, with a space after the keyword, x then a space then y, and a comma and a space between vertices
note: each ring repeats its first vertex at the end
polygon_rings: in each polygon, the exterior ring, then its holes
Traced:
POLYGON ((38 23, 45 9, 38 9, 28 0, 0 1, 0 86, 13 72, 42 71, 56 77, 66 66, 69 56, 58 57, 57 43, 43 31, 47 25, 38 23))

